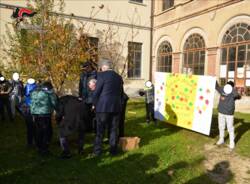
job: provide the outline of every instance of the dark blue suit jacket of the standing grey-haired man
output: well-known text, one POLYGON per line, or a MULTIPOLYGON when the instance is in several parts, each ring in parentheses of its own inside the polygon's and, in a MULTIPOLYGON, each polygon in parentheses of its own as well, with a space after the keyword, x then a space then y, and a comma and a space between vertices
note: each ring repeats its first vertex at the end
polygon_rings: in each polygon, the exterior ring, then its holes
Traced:
POLYGON ((123 95, 122 77, 112 70, 97 74, 93 103, 96 112, 120 112, 123 95))

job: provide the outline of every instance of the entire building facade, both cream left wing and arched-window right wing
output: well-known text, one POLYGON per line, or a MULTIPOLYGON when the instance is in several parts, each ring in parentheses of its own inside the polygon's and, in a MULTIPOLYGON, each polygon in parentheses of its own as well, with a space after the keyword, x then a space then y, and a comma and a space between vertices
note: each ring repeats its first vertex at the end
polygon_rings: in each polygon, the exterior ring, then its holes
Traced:
MULTIPOLYGON (((2 35, 10 15, 0 9, 2 35)), ((125 90, 132 96, 156 71, 212 75, 221 85, 234 81, 243 95, 238 107, 249 109, 249 0, 65 0, 62 16, 84 23, 99 43, 100 33, 116 32, 113 43, 129 61, 125 90)))

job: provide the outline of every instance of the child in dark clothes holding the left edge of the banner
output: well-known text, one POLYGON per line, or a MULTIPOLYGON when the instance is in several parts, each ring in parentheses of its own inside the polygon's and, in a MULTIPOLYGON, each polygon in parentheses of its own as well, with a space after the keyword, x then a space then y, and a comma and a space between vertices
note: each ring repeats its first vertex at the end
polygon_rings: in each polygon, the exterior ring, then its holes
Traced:
POLYGON ((146 121, 147 123, 150 122, 152 119, 155 124, 157 121, 154 117, 154 85, 151 81, 145 82, 144 90, 139 91, 140 96, 145 95, 145 105, 146 105, 146 121))

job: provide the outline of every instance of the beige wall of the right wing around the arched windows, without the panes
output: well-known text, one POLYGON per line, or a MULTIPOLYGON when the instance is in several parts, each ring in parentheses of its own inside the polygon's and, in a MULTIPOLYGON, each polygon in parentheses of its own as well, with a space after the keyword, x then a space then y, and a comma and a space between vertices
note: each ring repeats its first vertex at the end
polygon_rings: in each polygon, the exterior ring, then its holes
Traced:
MULTIPOLYGON (((175 0, 172 8, 162 11, 162 1, 155 1, 153 33, 153 71, 157 66, 157 50, 163 41, 173 49, 172 71, 182 72, 183 47, 193 33, 200 34, 206 45, 205 75, 219 78, 222 37, 232 25, 250 24, 248 0, 175 0)), ((249 108, 249 97, 238 101, 238 110, 249 108)))

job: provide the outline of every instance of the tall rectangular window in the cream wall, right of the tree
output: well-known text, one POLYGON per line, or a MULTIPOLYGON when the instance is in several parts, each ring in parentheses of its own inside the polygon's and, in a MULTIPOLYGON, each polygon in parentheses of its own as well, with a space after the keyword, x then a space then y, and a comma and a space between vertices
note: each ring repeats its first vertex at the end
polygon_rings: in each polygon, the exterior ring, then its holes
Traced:
POLYGON ((128 78, 141 77, 142 43, 128 42, 128 78))

